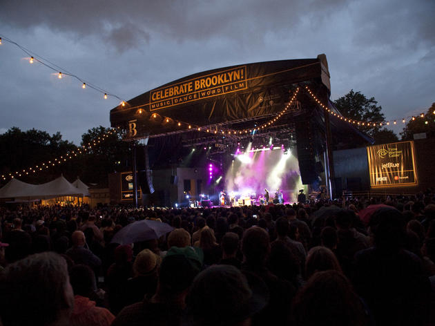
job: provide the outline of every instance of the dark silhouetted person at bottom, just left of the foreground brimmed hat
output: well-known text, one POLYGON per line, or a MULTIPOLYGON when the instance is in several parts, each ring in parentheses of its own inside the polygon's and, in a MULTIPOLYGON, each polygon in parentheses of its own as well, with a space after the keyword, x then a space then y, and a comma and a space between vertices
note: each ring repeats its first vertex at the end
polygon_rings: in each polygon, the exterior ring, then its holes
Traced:
POLYGON ((160 265, 155 295, 122 309, 112 326, 182 325, 186 296, 202 265, 201 251, 171 247, 160 265))

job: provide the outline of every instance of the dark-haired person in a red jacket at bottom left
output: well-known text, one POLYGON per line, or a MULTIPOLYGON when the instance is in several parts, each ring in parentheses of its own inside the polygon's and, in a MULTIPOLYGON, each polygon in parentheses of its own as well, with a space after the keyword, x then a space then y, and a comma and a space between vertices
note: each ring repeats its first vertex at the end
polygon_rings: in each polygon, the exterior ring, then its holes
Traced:
POLYGON ((75 265, 70 271, 70 283, 74 292, 74 309, 70 316, 71 326, 110 326, 115 319, 108 309, 97 307, 93 298, 95 275, 87 265, 75 265))

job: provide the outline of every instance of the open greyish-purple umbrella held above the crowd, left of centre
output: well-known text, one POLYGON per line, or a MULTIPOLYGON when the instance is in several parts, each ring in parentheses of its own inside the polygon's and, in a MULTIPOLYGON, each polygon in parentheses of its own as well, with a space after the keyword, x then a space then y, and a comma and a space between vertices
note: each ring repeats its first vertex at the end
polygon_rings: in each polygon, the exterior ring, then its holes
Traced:
POLYGON ((173 229, 171 225, 164 222, 140 220, 120 229, 111 242, 119 243, 119 245, 128 245, 134 242, 158 239, 173 229))

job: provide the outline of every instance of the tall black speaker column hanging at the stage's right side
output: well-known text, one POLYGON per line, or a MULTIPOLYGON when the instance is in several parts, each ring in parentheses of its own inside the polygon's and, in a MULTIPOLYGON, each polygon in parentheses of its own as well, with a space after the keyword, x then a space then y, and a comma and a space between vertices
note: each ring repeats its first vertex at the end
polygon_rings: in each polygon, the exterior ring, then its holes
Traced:
POLYGON ((313 131, 309 119, 298 119, 296 127, 296 149, 302 184, 312 184, 317 180, 316 158, 314 154, 313 131))

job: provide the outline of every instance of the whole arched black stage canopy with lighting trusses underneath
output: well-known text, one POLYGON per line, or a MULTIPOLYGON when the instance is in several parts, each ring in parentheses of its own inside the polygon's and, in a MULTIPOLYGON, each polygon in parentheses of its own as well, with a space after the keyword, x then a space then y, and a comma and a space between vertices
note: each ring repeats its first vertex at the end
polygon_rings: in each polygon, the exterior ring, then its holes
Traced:
POLYGON ((110 111, 110 124, 124 140, 147 140, 149 169, 186 162, 195 146, 211 158, 270 142, 297 147, 302 181, 309 184, 316 174, 302 169, 325 165, 326 148, 331 155, 372 142, 326 113, 322 105, 340 115, 330 94, 326 55, 241 64, 189 75, 122 102, 110 111))

